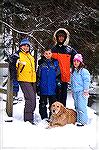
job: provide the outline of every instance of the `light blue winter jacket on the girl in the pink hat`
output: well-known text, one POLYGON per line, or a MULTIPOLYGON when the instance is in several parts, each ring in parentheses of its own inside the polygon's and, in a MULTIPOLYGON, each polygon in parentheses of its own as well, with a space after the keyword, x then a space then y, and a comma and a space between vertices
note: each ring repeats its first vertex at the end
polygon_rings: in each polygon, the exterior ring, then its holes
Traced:
POLYGON ((87 69, 81 68, 79 72, 75 69, 71 74, 71 88, 73 92, 89 90, 90 73, 87 69))

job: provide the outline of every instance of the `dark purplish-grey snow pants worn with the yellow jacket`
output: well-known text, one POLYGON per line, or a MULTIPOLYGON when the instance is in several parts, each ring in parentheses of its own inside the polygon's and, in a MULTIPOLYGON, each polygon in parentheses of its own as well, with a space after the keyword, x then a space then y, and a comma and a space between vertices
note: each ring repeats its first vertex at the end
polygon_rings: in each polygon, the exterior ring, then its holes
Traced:
POLYGON ((19 82, 25 98, 24 121, 33 123, 36 108, 36 84, 30 82, 19 82))

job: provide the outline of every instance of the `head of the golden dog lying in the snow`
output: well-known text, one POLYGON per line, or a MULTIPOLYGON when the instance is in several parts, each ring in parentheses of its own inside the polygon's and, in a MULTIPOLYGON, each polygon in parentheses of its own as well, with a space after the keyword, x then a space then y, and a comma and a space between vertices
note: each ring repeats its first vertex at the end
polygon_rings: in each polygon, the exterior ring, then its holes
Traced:
POLYGON ((60 102, 54 102, 51 105, 51 114, 52 115, 60 115, 62 114, 64 111, 66 111, 64 105, 60 102))

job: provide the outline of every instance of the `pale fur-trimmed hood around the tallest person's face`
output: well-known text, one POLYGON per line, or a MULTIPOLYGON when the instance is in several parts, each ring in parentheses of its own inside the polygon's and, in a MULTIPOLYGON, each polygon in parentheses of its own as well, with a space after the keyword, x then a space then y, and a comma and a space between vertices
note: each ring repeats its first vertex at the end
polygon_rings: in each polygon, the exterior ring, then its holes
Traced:
POLYGON ((66 38, 66 40, 65 40, 65 42, 64 42, 64 45, 68 45, 70 33, 69 33, 65 28, 59 28, 58 30, 55 31, 54 36, 53 36, 53 40, 54 40, 55 45, 57 44, 56 34, 57 34, 57 32, 60 31, 60 30, 65 31, 65 33, 66 33, 66 35, 67 35, 67 38, 66 38))

